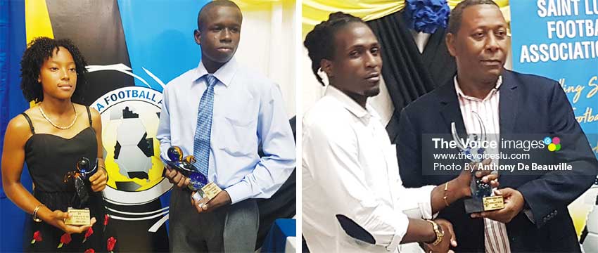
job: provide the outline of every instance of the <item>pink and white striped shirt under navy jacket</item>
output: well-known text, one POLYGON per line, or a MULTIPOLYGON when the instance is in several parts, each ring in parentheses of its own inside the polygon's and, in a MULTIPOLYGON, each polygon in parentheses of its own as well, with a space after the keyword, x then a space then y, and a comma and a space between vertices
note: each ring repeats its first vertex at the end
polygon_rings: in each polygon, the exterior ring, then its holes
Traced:
MULTIPOLYGON (((454 89, 457 91, 459 97, 459 107, 461 108, 461 116, 467 133, 481 133, 481 129, 476 122, 476 118, 472 112, 476 112, 482 119, 488 141, 494 139, 499 141, 500 121, 499 121, 499 98, 500 85, 502 84, 502 77, 499 77, 496 86, 483 98, 475 98, 467 96, 463 93, 457 82, 457 76, 454 77, 454 89)), ((496 154, 498 150, 488 149, 485 153, 496 154)), ((498 165, 498 160, 492 160, 493 164, 498 165)), ((511 252, 509 247, 509 237, 507 236, 507 226, 499 221, 484 218, 484 247, 485 252, 488 253, 502 253, 511 252)))

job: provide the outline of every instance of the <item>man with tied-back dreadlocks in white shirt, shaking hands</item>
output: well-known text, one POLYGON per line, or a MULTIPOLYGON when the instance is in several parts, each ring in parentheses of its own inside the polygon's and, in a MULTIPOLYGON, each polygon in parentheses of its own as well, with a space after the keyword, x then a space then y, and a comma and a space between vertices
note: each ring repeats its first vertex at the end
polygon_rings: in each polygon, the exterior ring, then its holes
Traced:
MULTIPOLYGON (((330 82, 303 117, 303 235, 310 251, 397 252, 400 243, 426 242, 434 252, 447 252, 456 246, 451 224, 431 219, 471 195, 471 174, 442 187, 402 187, 395 148, 367 103, 381 77, 374 33, 360 18, 333 13, 304 44, 314 74, 322 82, 321 69, 330 82)), ((496 185, 495 179, 483 180, 496 185)))

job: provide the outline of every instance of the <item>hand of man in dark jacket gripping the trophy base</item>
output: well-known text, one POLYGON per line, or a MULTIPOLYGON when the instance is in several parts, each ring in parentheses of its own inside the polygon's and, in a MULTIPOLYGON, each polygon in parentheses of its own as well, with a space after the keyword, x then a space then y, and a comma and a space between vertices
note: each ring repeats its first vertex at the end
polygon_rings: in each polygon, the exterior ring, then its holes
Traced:
POLYGON ((519 190, 504 188, 495 190, 495 195, 502 195, 504 198, 504 208, 488 212, 471 214, 471 218, 488 218, 502 223, 509 223, 521 212, 525 201, 519 190))

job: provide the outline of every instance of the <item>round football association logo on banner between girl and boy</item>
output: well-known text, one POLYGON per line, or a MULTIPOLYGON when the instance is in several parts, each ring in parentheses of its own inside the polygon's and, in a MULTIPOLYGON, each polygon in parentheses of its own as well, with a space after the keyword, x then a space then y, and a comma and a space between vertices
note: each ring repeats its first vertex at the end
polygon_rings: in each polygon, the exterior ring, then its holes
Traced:
MULTIPOLYGON (((147 84, 125 65, 89 66, 88 70, 117 70, 147 84)), ((151 76, 163 85, 160 79, 151 76)), ((91 104, 102 119, 103 157, 108 171, 108 187, 103 193, 107 202, 117 206, 144 205, 172 188, 172 184, 165 180, 160 143, 155 138, 161 104, 162 93, 143 86, 109 91, 91 104)), ((166 221, 167 215, 164 215, 168 214, 168 207, 139 213, 110 208, 109 211, 113 212, 110 215, 113 219, 131 221, 163 216, 148 230, 156 231, 166 221), (127 217, 119 214, 127 214, 127 217)))

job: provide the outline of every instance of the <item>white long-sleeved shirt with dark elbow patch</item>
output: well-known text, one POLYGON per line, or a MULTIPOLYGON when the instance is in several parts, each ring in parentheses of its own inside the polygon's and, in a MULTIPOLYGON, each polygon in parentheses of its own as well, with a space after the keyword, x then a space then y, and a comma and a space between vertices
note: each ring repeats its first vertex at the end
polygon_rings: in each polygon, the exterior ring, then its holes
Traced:
POLYGON ((410 218, 431 219, 434 186, 406 189, 378 114, 333 86, 303 117, 303 235, 311 252, 397 252, 410 218), (346 216, 375 240, 348 235, 346 216))

